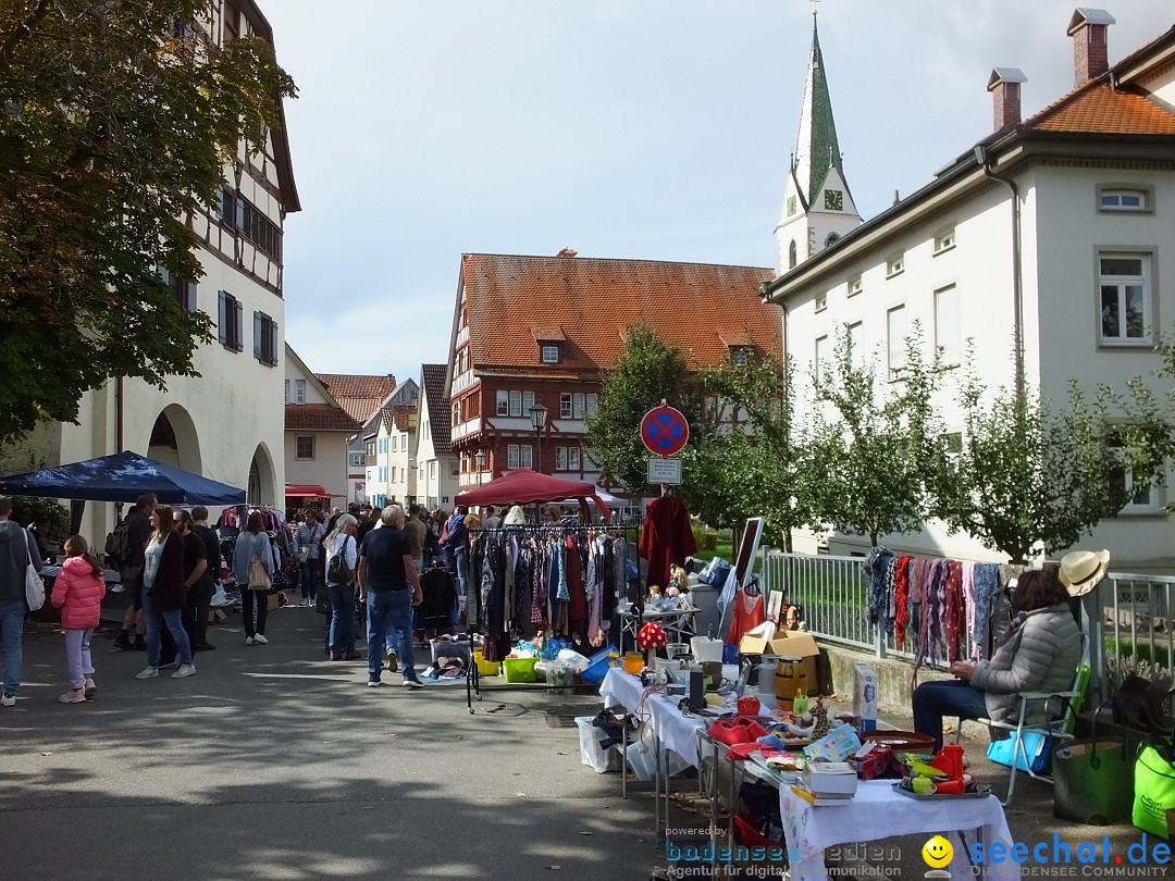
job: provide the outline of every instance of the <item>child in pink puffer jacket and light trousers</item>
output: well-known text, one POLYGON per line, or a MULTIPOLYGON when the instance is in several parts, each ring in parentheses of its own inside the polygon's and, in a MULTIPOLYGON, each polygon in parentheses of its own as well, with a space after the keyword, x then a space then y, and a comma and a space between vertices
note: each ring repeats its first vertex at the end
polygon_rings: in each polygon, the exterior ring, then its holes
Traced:
POLYGON ((65 551, 67 559, 53 584, 52 601, 61 610, 61 627, 66 632, 69 691, 58 700, 62 704, 85 704, 98 691, 89 640, 101 616, 106 578, 98 558, 89 552, 81 536, 67 538, 65 551))

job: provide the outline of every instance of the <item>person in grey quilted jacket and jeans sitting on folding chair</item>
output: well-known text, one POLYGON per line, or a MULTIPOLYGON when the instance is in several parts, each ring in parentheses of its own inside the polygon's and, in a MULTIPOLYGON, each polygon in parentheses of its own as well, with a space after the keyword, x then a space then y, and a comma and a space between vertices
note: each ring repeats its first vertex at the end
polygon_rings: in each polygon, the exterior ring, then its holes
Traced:
MULTIPOLYGON (((1012 594, 1015 618, 992 659, 955 661, 955 681, 922 682, 914 690, 914 731, 942 748, 942 717, 991 719, 1015 725, 1020 692, 1063 692, 1073 684, 1081 654, 1081 631, 1069 611, 1069 594, 1052 572, 1029 570, 1012 594)), ((1041 721, 1043 707, 1029 713, 1041 721)))

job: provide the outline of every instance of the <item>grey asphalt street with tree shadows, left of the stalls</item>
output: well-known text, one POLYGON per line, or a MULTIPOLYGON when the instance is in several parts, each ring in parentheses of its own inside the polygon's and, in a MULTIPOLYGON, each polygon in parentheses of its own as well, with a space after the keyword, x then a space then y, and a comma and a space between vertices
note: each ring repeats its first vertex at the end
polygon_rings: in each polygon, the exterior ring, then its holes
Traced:
MULTIPOLYGON (((365 687, 320 660, 322 618, 240 616, 186 680, 136 681, 143 654, 95 638, 99 694, 61 705, 63 650, 29 625, 20 700, 0 712, 4 879, 649 877, 652 802, 579 762, 575 699, 365 687)), ((585 714, 598 699, 584 698, 585 714)))

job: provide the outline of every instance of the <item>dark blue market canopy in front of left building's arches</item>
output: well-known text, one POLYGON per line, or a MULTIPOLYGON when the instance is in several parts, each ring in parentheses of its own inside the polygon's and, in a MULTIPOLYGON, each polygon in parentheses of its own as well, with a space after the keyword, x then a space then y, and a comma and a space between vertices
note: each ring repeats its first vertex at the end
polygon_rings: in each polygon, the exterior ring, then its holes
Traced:
POLYGON ((130 502, 153 492, 164 505, 243 505, 244 490, 164 465, 136 452, 0 478, 0 493, 85 502, 130 502))

